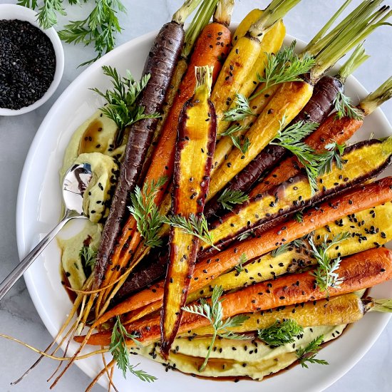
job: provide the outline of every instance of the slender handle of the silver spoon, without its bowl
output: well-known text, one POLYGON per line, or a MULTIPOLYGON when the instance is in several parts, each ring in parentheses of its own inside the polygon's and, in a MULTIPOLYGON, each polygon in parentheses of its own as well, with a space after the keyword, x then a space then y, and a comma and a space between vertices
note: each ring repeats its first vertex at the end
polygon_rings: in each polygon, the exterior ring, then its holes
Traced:
POLYGON ((33 261, 41 254, 43 249, 45 249, 49 242, 56 237, 56 234, 73 218, 85 218, 83 215, 79 215, 75 211, 67 211, 63 219, 58 223, 58 225, 39 242, 36 247, 14 268, 14 270, 9 274, 6 279, 0 284, 0 300, 9 292, 9 289, 14 286, 16 281, 24 274, 26 269, 28 269, 33 261))

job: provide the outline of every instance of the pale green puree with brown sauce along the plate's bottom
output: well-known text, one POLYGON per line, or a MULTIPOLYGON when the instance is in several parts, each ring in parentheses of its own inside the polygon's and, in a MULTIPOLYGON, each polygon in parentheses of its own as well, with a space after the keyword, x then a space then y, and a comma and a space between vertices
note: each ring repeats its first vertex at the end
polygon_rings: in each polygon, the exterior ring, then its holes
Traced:
MULTIPOLYGON (((175 339, 170 351, 169 365, 175 366, 184 373, 193 373, 204 377, 240 377, 248 376, 254 380, 262 380, 269 374, 276 373, 296 361, 296 349, 306 347, 313 339, 324 335, 324 341, 337 338, 346 325, 315 326, 304 328, 304 334, 296 337, 296 341, 271 348, 259 340, 217 339, 212 349, 205 371, 198 369, 202 365, 210 346, 210 337, 175 339), (216 349, 215 349, 216 347, 216 349)), ((159 347, 154 344, 145 347, 134 347, 131 351, 154 358, 160 363, 167 363, 160 356, 159 347), (156 354, 156 355, 155 355, 156 354)), ((318 357, 322 359, 322 350, 318 357)), ((310 365, 320 366, 320 365, 310 365)))

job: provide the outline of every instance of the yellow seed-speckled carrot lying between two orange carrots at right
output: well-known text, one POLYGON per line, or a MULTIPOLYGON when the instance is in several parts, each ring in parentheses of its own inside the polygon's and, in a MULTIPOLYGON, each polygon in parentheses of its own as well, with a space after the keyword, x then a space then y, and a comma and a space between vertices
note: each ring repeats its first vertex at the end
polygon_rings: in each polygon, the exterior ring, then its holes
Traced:
MULTIPOLYGON (((304 212, 306 214, 306 211, 304 212)), ((335 222, 314 230, 311 234, 314 244, 319 245, 325 236, 331 239, 341 232, 350 234, 336 247, 329 248, 328 257, 346 257, 350 254, 363 252, 372 247, 380 247, 392 240, 392 202, 377 205, 356 214, 341 217, 335 222), (364 223, 363 223, 364 222, 364 223)), ((284 227, 282 223, 282 227, 284 227)), ((274 279, 287 272, 293 273, 298 269, 315 264, 316 259, 309 252, 309 238, 306 236, 296 244, 289 244, 280 252, 270 252, 251 262, 244 262, 241 268, 220 275, 209 284, 188 295, 187 302, 195 301, 200 297, 210 296, 215 286, 221 286, 225 292, 250 284, 274 279)))

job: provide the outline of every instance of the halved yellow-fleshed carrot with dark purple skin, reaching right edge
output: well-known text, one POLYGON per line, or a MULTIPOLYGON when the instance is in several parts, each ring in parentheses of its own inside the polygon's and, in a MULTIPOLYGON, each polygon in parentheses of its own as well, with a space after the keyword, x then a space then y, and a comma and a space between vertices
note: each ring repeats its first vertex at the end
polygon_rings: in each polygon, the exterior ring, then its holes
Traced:
MULTIPOLYGON (((288 214, 322 202, 379 175, 392 160, 392 139, 365 140, 356 143, 343 155, 341 168, 334 165, 330 172, 317 178, 318 190, 312 194, 309 181, 303 175, 290 178, 269 192, 256 195, 233 211, 210 224, 210 234, 220 249, 233 242, 239 234, 274 225, 288 214)), ((207 246, 199 253, 205 257, 212 252, 207 246)))

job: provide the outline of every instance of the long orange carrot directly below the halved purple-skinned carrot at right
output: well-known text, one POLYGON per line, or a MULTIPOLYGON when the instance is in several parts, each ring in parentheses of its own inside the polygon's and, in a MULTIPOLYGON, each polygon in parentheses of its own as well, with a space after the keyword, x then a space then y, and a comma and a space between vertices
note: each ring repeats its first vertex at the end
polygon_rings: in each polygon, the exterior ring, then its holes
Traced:
MULTIPOLYGON (((366 210, 376 205, 381 205, 392 200, 392 177, 349 190, 334 197, 329 202, 324 202, 318 207, 306 212, 302 222, 295 219, 285 222, 282 227, 273 227, 264 232, 260 237, 241 241, 228 249, 220 252, 217 257, 207 257, 198 262, 190 282, 190 292, 210 283, 226 271, 234 268, 239 263, 239 256, 244 254, 248 260, 253 260, 263 254, 271 252, 284 243, 292 242, 309 232, 328 225, 342 217, 366 210)), ((150 289, 145 289, 122 303, 107 311, 96 321, 96 325, 120 314, 139 309, 143 306, 160 301, 163 298, 163 282, 153 284, 150 289)))

